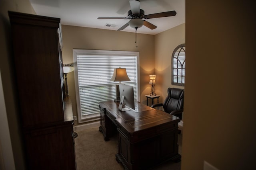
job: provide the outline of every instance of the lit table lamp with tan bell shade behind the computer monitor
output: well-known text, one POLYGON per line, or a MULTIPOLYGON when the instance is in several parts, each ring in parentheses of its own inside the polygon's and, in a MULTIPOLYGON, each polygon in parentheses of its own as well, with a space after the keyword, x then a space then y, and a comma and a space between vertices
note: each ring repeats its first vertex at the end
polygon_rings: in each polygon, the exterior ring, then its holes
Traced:
MULTIPOLYGON (((114 73, 110 81, 121 83, 121 81, 131 81, 131 80, 127 75, 126 68, 119 67, 119 68, 114 68, 114 73)), ((116 98, 114 101, 120 102, 119 84, 116 84, 116 98)))

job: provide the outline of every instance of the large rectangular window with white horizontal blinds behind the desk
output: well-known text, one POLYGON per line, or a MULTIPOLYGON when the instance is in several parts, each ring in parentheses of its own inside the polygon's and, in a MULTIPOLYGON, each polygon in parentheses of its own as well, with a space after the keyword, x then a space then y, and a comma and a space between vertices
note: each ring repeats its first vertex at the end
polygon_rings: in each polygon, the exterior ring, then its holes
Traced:
POLYGON ((140 101, 139 52, 73 50, 78 123, 99 120, 99 102, 114 100, 116 86, 111 82, 114 68, 126 68, 131 81, 122 82, 134 86, 134 98, 140 101))

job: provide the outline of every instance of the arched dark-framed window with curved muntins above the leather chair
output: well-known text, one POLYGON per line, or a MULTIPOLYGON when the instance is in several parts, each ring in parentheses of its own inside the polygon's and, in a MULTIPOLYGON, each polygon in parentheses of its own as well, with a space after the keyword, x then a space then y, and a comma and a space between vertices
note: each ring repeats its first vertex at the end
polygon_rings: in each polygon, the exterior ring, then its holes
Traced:
POLYGON ((172 53, 172 84, 185 85, 185 44, 178 45, 172 53))

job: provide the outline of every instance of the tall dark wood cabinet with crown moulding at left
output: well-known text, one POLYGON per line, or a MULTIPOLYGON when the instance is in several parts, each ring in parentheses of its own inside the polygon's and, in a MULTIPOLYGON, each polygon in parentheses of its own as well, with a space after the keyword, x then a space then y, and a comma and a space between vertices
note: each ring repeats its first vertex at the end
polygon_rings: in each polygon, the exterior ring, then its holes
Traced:
POLYGON ((65 96, 60 19, 9 12, 27 169, 75 170, 73 113, 65 96))

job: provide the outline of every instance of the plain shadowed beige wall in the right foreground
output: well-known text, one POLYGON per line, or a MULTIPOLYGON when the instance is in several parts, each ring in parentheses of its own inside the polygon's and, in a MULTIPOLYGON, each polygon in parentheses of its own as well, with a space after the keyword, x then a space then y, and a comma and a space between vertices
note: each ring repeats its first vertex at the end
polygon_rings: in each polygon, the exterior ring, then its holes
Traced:
POLYGON ((186 0, 182 170, 256 169, 253 1, 186 0))

